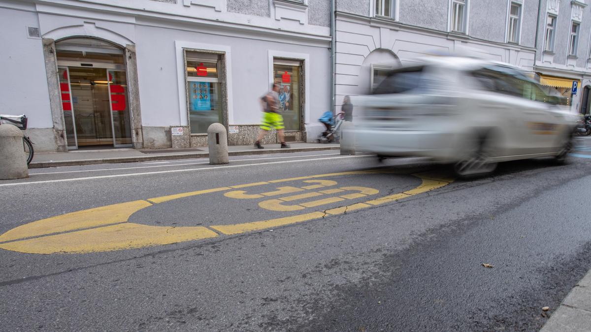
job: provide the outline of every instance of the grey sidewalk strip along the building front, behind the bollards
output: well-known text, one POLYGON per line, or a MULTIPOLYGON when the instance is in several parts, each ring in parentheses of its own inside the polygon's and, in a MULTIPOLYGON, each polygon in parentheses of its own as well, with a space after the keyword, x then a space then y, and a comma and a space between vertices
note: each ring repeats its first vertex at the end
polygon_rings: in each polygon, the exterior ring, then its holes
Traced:
MULTIPOLYGON (((339 144, 292 143, 291 148, 281 149, 279 144, 268 144, 264 149, 255 149, 252 145, 232 145, 228 155, 258 155, 290 152, 337 150, 339 144)), ((176 160, 189 158, 207 158, 207 147, 190 149, 101 149, 75 150, 69 152, 35 153, 29 168, 113 164, 117 162, 138 162, 154 160, 176 160)))

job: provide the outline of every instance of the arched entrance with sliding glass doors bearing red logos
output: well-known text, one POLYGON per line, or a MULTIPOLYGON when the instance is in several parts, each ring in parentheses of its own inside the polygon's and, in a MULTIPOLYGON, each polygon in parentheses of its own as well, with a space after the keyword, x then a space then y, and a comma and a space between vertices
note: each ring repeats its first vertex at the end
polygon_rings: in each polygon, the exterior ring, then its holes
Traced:
POLYGON ((68 149, 131 147, 124 50, 94 38, 56 42, 68 149))

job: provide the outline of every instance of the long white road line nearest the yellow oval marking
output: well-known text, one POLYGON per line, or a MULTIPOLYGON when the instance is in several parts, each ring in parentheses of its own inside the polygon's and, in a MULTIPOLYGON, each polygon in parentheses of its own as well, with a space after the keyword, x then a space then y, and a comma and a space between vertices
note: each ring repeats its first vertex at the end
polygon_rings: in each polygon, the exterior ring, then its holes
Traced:
POLYGON ((342 156, 342 157, 313 158, 313 159, 304 159, 304 160, 271 161, 271 162, 256 163, 256 164, 242 164, 242 165, 227 165, 227 166, 216 166, 216 167, 189 168, 189 169, 186 169, 186 170, 170 170, 170 171, 142 172, 142 173, 130 173, 130 174, 99 175, 99 176, 96 176, 96 177, 64 178, 64 179, 60 179, 60 180, 30 181, 30 182, 19 182, 19 183, 2 183, 2 184, 0 184, 0 187, 8 187, 10 185, 22 185, 22 184, 56 183, 56 182, 68 182, 68 181, 80 181, 80 180, 94 180, 94 179, 98 179, 98 178, 131 177, 131 176, 134 176, 134 175, 149 175, 149 174, 163 174, 163 173, 175 173, 175 172, 190 172, 190 171, 216 170, 216 169, 220 169, 220 168, 236 168, 236 167, 247 167, 247 166, 271 165, 271 164, 287 164, 288 162, 303 162, 303 161, 330 160, 330 159, 342 159, 342 158, 363 158, 363 157, 373 157, 373 156, 372 155, 345 155, 345 156, 342 156))

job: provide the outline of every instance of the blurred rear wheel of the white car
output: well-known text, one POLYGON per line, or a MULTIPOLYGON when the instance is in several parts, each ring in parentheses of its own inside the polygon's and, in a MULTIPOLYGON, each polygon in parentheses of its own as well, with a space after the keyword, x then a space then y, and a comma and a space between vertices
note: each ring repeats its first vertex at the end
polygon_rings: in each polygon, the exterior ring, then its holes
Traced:
POLYGON ((478 139, 472 151, 463 160, 453 164, 453 171, 461 178, 478 177, 491 174, 496 170, 498 162, 490 161, 491 142, 488 139, 478 139))

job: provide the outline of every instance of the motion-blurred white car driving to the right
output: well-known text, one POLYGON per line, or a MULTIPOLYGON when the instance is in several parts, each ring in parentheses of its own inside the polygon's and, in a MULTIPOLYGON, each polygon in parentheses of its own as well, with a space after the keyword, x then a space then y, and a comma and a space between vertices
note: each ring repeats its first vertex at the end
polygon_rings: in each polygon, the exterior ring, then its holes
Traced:
POLYGON ((502 161, 566 161, 576 116, 508 64, 433 57, 391 73, 372 95, 352 97, 358 147, 379 158, 431 157, 460 176, 502 161))

